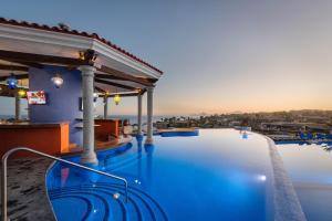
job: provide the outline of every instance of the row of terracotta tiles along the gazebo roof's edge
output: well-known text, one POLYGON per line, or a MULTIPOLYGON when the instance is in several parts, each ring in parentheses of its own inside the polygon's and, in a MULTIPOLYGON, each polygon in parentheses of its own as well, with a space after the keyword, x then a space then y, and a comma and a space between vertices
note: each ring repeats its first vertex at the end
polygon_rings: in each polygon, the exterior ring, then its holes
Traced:
POLYGON ((17 21, 17 20, 13 20, 13 19, 4 19, 4 18, 1 18, 0 17, 0 23, 4 23, 4 24, 12 24, 12 25, 18 25, 18 27, 25 27, 25 28, 32 28, 32 29, 40 29, 40 30, 45 30, 45 31, 54 31, 54 32, 61 32, 61 33, 68 33, 68 34, 74 34, 74 35, 81 35, 81 36, 87 36, 87 38, 92 38, 92 39, 95 39, 95 40, 98 40, 101 41, 102 43, 111 46, 112 49, 115 49, 117 50, 118 52, 125 54, 126 56, 159 72, 160 74, 163 74, 163 72, 160 70, 158 70, 157 67, 148 64, 147 62, 145 61, 142 61, 141 59, 138 59, 137 56, 133 55, 132 53, 123 50, 122 48, 113 44, 112 42, 105 40, 104 38, 101 38, 98 34, 96 33, 87 33, 85 31, 77 31, 77 30, 66 30, 66 29, 61 29, 59 27, 50 27, 50 25, 46 25, 46 24, 38 24, 38 23, 29 23, 27 21, 17 21))

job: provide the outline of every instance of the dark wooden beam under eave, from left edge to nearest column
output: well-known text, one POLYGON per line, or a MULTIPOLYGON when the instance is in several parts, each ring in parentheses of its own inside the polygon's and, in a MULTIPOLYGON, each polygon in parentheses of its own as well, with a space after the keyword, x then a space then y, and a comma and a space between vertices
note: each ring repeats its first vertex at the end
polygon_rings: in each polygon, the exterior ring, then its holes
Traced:
POLYGON ((90 61, 84 61, 80 59, 63 57, 63 56, 52 56, 44 54, 32 54, 23 52, 13 52, 0 50, 0 59, 10 62, 29 62, 29 63, 49 63, 49 64, 60 64, 60 65, 92 65, 90 61))

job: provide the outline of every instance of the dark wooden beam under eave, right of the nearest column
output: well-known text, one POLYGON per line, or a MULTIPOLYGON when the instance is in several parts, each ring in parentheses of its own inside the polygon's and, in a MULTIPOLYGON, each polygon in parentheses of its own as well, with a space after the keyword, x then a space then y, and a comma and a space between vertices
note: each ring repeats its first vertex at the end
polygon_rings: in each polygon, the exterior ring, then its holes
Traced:
POLYGON ((97 69, 97 71, 106 73, 106 74, 98 74, 100 78, 117 77, 117 80, 131 81, 131 82, 142 84, 144 86, 153 86, 153 83, 151 83, 149 81, 147 81, 145 78, 135 77, 135 76, 132 76, 132 75, 126 74, 124 72, 121 72, 121 71, 114 70, 112 67, 108 67, 108 66, 102 65, 102 67, 97 69), (111 76, 108 76, 108 75, 111 75, 111 76))

